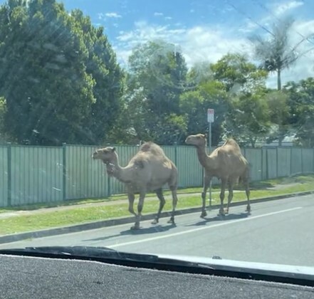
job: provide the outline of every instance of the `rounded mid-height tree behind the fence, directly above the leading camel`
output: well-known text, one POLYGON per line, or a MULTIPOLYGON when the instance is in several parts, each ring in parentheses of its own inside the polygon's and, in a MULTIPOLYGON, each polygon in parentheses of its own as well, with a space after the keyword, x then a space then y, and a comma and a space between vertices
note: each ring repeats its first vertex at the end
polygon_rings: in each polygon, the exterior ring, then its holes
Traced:
POLYGON ((186 82, 187 65, 171 43, 150 41, 133 49, 125 100, 140 140, 166 145, 184 139, 187 125, 179 97, 186 82))

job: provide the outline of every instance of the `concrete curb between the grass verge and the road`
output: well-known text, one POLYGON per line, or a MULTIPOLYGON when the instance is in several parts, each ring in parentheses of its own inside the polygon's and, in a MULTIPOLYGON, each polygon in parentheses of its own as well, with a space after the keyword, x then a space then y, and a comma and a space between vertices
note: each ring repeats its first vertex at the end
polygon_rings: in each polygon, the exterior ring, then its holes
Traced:
MULTIPOLYGON (((286 199, 290 197, 295 196, 304 196, 313 194, 314 191, 307 191, 307 192, 298 192, 295 194, 286 194, 286 195, 278 195, 273 197, 263 197, 261 199, 251 199, 251 204, 256 204, 259 202, 265 202, 265 201, 272 201, 276 199, 286 199)), ((230 206, 243 206, 246 205, 246 201, 236 201, 234 203, 231 202, 230 206)), ((219 204, 215 204, 211 206, 211 209, 218 209, 220 207, 219 204)), ((208 208, 208 207, 207 207, 208 208)), ((176 211, 176 215, 184 215, 184 214, 190 214, 195 212, 201 211, 201 206, 189 208, 189 209, 181 209, 176 211)), ((142 221, 153 219, 155 214, 147 214, 142 216, 142 221)), ((170 211, 163 212, 160 218, 169 217, 171 215, 170 211)), ((86 224, 77 224, 74 226, 63 226, 59 228, 54 229, 44 229, 40 231, 29 231, 27 233, 21 233, 21 234, 11 234, 6 236, 0 236, 0 244, 1 243, 11 243, 16 241, 25 240, 28 238, 42 238, 46 236, 56 236, 60 234, 69 234, 69 233, 75 233, 78 231, 88 231, 90 229, 101 229, 103 227, 107 226, 116 226, 120 224, 131 224, 134 222, 134 216, 128 216, 128 217, 122 217, 117 219, 108 219, 103 221, 95 221, 95 222, 89 222, 86 224)))

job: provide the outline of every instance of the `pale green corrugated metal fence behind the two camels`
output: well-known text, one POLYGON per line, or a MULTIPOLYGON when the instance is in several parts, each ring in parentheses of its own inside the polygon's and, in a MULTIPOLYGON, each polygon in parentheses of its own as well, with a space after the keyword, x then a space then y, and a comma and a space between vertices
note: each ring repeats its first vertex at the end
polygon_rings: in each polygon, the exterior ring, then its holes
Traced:
MULTIPOLYGON (((103 198, 125 192, 124 184, 109 178, 105 166, 91 158, 97 147, 0 146, 0 206, 21 206, 69 199, 103 198)), ((116 146, 125 166, 137 146, 116 146)), ((164 146, 177 165, 179 187, 202 186, 202 167, 194 147, 164 146)), ((251 164, 251 180, 314 172, 314 149, 274 147, 242 149, 251 164)), ((214 179, 214 184, 219 183, 214 179)))

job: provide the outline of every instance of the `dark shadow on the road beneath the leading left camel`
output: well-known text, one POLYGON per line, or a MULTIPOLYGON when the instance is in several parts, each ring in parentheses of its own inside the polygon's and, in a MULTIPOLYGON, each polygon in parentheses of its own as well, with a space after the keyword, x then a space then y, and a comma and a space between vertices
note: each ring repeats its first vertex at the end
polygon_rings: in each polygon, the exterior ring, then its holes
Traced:
MULTIPOLYGON (((132 224, 130 224, 132 225, 132 224)), ((111 236, 103 236, 100 238, 90 238, 88 240, 84 240, 86 242, 88 241, 105 241, 108 240, 110 238, 115 238, 118 236, 137 236, 137 235, 145 235, 145 234, 156 234, 156 233, 162 233, 164 231, 169 231, 169 229, 174 229, 175 227, 177 227, 176 224, 167 224, 167 225, 153 225, 150 227, 145 227, 145 228, 140 228, 140 229, 126 229, 125 231, 120 231, 120 234, 114 234, 111 236)))

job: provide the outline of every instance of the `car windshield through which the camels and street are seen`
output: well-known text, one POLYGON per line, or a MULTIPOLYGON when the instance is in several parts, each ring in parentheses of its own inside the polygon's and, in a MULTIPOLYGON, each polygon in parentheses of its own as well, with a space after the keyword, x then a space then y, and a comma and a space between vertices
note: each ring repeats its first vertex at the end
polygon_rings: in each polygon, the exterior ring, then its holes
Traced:
POLYGON ((0 0, 0 249, 313 267, 313 11, 0 0))

